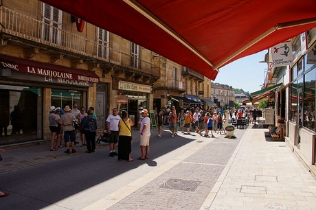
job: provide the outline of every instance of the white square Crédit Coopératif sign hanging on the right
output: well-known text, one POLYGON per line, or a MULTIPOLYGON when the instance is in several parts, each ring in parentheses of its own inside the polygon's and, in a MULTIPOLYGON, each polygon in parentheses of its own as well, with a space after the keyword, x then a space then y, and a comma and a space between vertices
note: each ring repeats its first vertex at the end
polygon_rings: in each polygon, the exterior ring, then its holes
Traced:
POLYGON ((272 67, 293 65, 293 53, 291 42, 280 43, 270 48, 272 67))

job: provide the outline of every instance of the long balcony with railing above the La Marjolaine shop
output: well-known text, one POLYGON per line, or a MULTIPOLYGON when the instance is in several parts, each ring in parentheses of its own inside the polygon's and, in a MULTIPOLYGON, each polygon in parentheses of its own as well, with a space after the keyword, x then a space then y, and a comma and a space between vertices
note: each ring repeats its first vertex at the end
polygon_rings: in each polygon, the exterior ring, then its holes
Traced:
POLYGON ((80 56, 104 66, 120 67, 156 80, 160 77, 160 68, 153 63, 133 58, 95 40, 72 34, 8 8, 0 7, 0 23, 2 38, 15 40, 16 43, 43 47, 58 51, 59 54, 80 56))

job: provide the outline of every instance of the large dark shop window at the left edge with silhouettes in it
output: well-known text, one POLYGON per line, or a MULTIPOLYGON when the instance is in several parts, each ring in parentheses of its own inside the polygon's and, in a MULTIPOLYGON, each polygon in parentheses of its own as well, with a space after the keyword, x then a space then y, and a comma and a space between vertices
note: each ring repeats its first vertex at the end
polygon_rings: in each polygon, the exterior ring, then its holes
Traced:
POLYGON ((0 85, 0 145, 40 139, 41 105, 39 88, 0 85))

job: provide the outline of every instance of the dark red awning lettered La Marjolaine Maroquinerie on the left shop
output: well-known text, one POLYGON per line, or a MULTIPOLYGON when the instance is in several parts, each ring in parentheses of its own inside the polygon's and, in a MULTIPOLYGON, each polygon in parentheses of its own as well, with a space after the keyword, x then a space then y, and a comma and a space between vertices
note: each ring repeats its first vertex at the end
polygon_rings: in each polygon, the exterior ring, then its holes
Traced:
POLYGON ((52 65, 34 60, 14 58, 10 56, 0 56, 1 69, 12 69, 22 73, 46 76, 47 78, 59 78, 61 80, 78 80, 82 82, 98 83, 100 78, 92 71, 72 69, 58 65, 52 65))

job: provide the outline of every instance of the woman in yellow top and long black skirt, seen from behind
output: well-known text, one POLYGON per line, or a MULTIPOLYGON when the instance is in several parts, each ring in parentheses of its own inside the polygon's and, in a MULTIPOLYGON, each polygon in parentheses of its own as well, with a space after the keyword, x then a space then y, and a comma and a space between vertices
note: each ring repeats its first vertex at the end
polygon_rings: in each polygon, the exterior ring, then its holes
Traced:
POLYGON ((117 159, 119 161, 134 161, 131 158, 132 152, 132 131, 131 127, 134 126, 133 121, 128 118, 126 110, 122 110, 122 117, 119 122, 119 141, 120 147, 118 148, 117 159))

